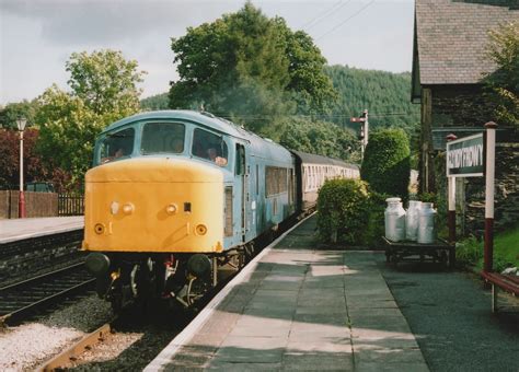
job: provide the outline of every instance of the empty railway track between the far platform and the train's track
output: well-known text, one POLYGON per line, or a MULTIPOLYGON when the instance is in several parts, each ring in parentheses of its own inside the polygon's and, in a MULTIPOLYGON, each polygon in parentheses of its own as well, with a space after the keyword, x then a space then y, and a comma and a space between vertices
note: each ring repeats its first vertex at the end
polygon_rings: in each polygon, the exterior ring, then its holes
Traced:
POLYGON ((81 263, 0 288, 0 325, 18 322, 36 309, 84 290, 94 280, 81 263))

